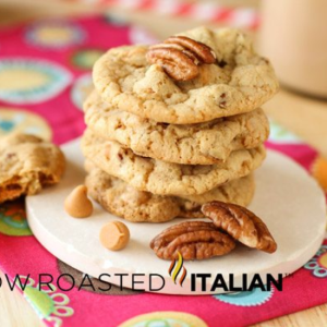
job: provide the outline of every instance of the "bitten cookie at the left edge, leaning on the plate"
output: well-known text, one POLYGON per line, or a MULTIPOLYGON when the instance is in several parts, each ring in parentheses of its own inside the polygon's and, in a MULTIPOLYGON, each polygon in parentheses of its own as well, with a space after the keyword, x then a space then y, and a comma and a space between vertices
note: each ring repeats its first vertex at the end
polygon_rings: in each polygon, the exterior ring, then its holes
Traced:
POLYGON ((25 134, 9 134, 0 142, 0 203, 38 193, 58 183, 64 156, 52 143, 25 134))

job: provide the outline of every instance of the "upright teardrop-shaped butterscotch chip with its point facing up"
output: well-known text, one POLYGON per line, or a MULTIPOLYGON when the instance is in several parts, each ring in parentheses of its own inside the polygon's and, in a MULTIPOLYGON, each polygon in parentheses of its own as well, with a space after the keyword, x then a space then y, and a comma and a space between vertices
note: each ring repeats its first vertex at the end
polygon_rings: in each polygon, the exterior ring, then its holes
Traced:
POLYGON ((87 197, 87 187, 80 185, 64 201, 65 211, 74 218, 86 218, 93 213, 93 204, 87 197))

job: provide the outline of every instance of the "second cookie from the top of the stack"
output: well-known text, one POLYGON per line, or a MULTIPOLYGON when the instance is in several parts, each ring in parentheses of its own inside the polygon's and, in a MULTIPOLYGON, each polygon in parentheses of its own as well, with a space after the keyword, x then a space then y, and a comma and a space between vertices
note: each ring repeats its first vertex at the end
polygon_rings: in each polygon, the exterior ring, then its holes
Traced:
POLYGON ((117 141, 140 156, 175 164, 225 161, 231 152, 254 148, 269 135, 269 122, 262 109, 207 123, 165 124, 117 110, 94 92, 84 110, 86 124, 96 135, 117 141))

